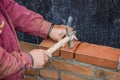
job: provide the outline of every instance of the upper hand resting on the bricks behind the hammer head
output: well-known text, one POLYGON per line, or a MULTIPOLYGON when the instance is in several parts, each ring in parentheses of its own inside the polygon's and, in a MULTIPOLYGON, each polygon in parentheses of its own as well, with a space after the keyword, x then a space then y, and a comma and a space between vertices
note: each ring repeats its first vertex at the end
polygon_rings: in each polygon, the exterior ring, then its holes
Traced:
MULTIPOLYGON (((72 31, 72 27, 68 27, 72 31)), ((53 29, 49 33, 49 37, 54 41, 60 41, 66 35, 65 25, 54 25, 53 29)))

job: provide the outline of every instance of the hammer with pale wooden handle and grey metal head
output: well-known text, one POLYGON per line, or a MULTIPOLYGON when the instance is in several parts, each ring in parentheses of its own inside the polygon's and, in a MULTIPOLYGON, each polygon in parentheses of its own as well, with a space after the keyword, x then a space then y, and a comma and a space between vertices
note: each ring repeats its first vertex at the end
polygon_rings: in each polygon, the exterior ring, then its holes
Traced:
POLYGON ((52 53, 54 53, 56 50, 58 50, 60 47, 62 47, 62 45, 64 45, 67 42, 68 42, 68 46, 70 48, 73 47, 73 45, 74 45, 73 40, 74 39, 77 39, 76 31, 71 31, 70 28, 68 28, 68 26, 66 26, 66 36, 63 39, 61 39, 59 42, 57 42, 55 45, 50 47, 47 50, 47 55, 49 57, 52 57, 52 53))

